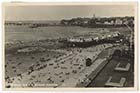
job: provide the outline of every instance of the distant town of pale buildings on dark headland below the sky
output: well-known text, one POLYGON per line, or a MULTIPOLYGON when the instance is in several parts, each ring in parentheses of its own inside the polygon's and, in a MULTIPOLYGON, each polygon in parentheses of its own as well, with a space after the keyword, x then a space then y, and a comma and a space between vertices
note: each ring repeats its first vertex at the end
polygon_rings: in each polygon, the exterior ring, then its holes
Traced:
POLYGON ((92 18, 72 18, 61 20, 63 25, 89 26, 89 27, 109 27, 109 26, 134 26, 134 17, 95 17, 92 18))

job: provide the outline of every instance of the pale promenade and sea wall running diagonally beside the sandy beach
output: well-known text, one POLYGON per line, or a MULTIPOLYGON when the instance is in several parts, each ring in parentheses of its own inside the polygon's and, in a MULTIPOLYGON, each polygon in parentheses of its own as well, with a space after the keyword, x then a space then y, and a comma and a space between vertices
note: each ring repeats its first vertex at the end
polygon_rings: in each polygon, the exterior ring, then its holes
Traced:
POLYGON ((115 49, 103 59, 96 59, 95 62, 87 67, 84 71, 80 72, 79 75, 73 76, 67 79, 59 87, 86 87, 96 76, 102 71, 102 69, 110 62, 115 49))

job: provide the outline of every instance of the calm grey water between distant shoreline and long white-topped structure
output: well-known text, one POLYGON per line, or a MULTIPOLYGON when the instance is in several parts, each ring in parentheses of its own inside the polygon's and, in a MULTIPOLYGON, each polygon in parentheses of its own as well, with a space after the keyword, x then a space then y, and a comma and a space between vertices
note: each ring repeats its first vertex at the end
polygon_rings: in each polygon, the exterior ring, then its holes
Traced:
POLYGON ((6 26, 5 40, 36 41, 49 38, 66 38, 77 35, 99 35, 110 32, 102 28, 84 28, 76 26, 54 26, 29 28, 28 26, 6 26))

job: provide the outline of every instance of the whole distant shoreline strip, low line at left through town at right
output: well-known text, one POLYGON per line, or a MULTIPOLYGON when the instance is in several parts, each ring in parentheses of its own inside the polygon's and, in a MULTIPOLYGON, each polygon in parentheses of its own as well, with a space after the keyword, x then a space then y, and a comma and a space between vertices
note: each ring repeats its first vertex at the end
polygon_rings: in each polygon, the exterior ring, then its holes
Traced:
POLYGON ((28 25, 30 28, 43 26, 82 26, 82 27, 122 27, 129 25, 134 26, 134 17, 93 17, 91 18, 72 18, 62 19, 60 21, 6 21, 5 25, 28 25))

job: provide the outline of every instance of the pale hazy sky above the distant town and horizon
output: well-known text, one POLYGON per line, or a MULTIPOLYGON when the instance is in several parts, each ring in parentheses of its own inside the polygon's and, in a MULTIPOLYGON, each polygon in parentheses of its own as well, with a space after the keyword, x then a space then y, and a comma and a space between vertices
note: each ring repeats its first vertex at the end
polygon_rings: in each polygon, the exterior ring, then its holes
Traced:
POLYGON ((5 20, 61 20, 134 16, 132 5, 5 6, 5 20))

